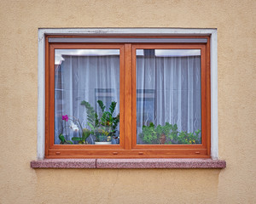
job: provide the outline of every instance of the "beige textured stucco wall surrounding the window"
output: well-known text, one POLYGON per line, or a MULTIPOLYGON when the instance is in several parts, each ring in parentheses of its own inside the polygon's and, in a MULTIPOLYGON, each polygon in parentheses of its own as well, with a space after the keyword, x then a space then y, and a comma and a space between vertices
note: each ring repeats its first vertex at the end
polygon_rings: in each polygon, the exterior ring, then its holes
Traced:
POLYGON ((0 1, 0 203, 256 203, 256 1, 0 1), (218 28, 223 170, 30 168, 38 27, 218 28))

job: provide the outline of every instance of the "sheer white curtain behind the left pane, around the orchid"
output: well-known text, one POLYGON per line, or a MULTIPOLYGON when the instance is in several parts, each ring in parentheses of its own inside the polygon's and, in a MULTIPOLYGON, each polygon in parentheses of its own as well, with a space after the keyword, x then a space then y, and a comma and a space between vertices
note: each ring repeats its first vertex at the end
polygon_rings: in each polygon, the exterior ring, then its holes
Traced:
MULTIPOLYGON (((116 101, 114 116, 119 113, 119 55, 72 56, 63 55, 64 60, 55 68, 55 144, 62 132, 61 116, 79 118, 82 127, 87 127, 87 114, 81 101, 85 100, 99 113, 97 100, 109 107, 116 101)), ((67 128, 68 129, 68 128, 67 128)), ((68 131, 67 140, 77 133, 68 131)))

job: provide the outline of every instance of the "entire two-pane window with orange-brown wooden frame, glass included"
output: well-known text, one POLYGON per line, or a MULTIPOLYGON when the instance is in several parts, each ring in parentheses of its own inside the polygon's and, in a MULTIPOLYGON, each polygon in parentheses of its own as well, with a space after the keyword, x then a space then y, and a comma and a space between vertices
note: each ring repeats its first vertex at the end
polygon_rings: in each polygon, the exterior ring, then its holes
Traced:
POLYGON ((210 81, 209 36, 46 36, 44 157, 209 158, 210 81))

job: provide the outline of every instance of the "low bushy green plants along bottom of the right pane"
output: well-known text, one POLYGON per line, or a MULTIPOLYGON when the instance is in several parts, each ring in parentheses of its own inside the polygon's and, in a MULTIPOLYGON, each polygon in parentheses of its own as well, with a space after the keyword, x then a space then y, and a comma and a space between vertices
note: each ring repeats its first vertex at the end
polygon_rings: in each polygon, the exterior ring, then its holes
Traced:
POLYGON ((143 126, 143 132, 139 137, 143 139, 146 144, 199 144, 201 142, 201 130, 195 133, 187 133, 185 131, 178 132, 177 124, 170 124, 166 122, 164 126, 154 126, 150 122, 149 126, 143 126))

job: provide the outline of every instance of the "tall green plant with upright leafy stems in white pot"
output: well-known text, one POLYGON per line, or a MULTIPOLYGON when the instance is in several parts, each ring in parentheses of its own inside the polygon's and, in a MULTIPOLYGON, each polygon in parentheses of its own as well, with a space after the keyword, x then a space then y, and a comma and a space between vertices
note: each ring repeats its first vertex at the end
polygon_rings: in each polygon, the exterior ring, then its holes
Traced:
POLYGON ((113 116, 117 103, 113 101, 109 106, 109 111, 105 111, 106 106, 103 104, 102 100, 98 100, 97 104, 102 111, 100 116, 97 115, 89 102, 85 100, 81 102, 81 105, 84 105, 86 109, 90 133, 95 138, 95 144, 112 144, 111 140, 117 138, 116 128, 119 124, 119 114, 113 116))

